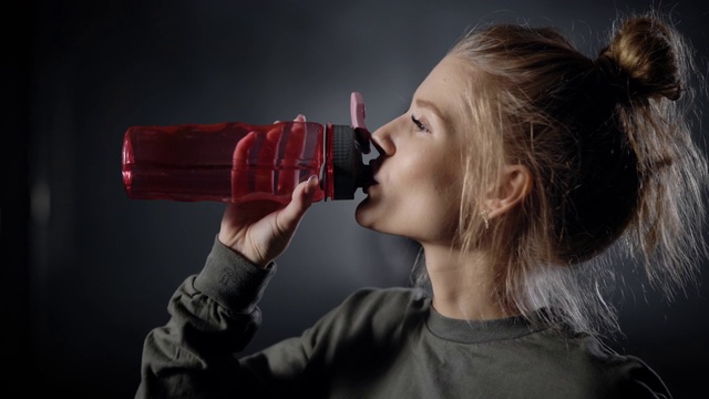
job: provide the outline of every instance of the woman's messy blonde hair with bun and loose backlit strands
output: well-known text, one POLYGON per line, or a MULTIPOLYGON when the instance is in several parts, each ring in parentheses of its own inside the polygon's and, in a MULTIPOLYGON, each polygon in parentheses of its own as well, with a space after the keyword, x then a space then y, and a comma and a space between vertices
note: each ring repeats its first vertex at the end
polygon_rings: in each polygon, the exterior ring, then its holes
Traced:
POLYGON ((670 298, 706 255, 689 47, 656 14, 620 22, 597 59, 556 30, 511 24, 472 31, 449 53, 471 69, 460 245, 494 248, 506 310, 545 308, 547 323, 590 332, 617 329, 614 255, 637 257, 670 298), (485 229, 481 188, 505 164, 527 167, 533 188, 485 229))

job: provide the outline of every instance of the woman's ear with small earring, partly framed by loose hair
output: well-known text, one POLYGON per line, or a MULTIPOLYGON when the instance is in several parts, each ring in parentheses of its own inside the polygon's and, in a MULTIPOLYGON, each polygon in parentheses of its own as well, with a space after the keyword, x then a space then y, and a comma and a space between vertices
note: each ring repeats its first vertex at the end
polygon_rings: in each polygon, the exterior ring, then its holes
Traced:
POLYGON ((524 165, 506 165, 497 186, 487 193, 483 209, 495 218, 517 206, 532 191, 532 174, 524 165))

